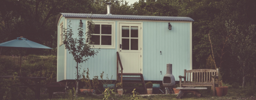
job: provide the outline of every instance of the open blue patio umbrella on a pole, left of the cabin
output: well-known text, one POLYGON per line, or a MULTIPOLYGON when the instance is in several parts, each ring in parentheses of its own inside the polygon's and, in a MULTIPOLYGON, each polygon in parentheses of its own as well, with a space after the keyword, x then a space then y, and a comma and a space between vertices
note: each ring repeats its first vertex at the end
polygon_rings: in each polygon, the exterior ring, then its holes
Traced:
MULTIPOLYGON (((48 46, 44 46, 42 44, 36 43, 34 41, 28 40, 27 38, 24 38, 23 36, 17 37, 16 39, 6 41, 3 43, 0 43, 0 47, 11 47, 11 48, 20 48, 22 51, 22 48, 29 48, 29 49, 53 49, 48 46)), ((20 54, 20 62, 21 62, 21 54, 20 54)), ((20 74, 21 74, 21 63, 20 63, 20 74)))

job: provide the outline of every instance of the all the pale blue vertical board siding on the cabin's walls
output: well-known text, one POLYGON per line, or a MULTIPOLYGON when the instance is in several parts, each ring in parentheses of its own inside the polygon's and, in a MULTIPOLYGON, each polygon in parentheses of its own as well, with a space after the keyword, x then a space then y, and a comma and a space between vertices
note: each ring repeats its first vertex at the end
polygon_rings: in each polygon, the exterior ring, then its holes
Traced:
MULTIPOLYGON (((68 19, 71 20, 71 27, 73 29, 74 36, 77 37, 77 28, 79 28, 80 19, 68 19)), ((86 20, 83 21, 83 29, 86 32, 86 20)), ((105 21, 105 20, 102 20, 105 21)), ((106 74, 109 78, 113 75, 112 80, 116 79, 116 51, 118 46, 118 21, 116 21, 116 48, 115 49, 100 49, 100 51, 94 57, 80 63, 83 69, 89 68, 89 77, 100 76, 100 73, 104 71, 104 79, 106 74)), ((69 24, 69 23, 68 23, 69 24)), ((178 75, 183 75, 184 69, 190 69, 190 49, 189 49, 189 34, 190 23, 178 23, 171 22, 172 30, 168 29, 168 22, 143 22, 143 76, 145 80, 163 80, 166 74, 166 64, 173 64, 173 74, 176 81, 179 80, 178 75), (162 54, 160 53, 162 51, 162 54), (162 71, 162 74, 161 72, 162 71)), ((59 36, 59 35, 58 35, 59 36)), ((59 40, 58 40, 59 41, 59 40)), ((63 49, 63 52, 59 50, 59 59, 64 60, 64 46, 59 47, 63 49), (61 48, 63 47, 63 48, 61 48)), ((95 49, 96 50, 96 49, 95 49)), ((76 61, 73 55, 67 51, 67 79, 76 78, 76 61)), ((64 62, 59 63, 59 66, 64 62)), ((58 67, 59 67, 58 66, 58 67)), ((59 70, 59 69, 58 69, 59 70)), ((64 71, 64 68, 60 68, 59 71, 64 71)), ((59 72, 60 73, 60 72, 59 72)), ((58 73, 58 80, 63 80, 64 76, 58 73)))

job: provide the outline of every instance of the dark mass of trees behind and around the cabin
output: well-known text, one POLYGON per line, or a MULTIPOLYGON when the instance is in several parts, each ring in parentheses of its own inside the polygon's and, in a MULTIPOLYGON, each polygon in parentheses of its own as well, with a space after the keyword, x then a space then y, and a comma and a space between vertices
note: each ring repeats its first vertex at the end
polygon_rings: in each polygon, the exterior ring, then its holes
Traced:
MULTIPOLYGON (((112 14, 193 18, 193 69, 212 67, 212 62, 209 62, 212 53, 209 34, 216 65, 223 73, 223 80, 241 83, 243 65, 237 56, 241 54, 239 50, 250 47, 242 44, 246 42, 241 40, 254 33, 251 31, 255 27, 252 24, 256 24, 256 0, 139 0, 133 4, 125 0, 0 0, 0 42, 24 36, 55 48, 43 52, 27 51, 26 54, 57 55, 57 26, 54 22, 58 13, 105 14, 105 2, 109 1, 112 2, 112 14), (236 28, 230 28, 227 25, 230 22, 236 28), (243 35, 238 36, 236 33, 243 35), (237 42, 234 42, 236 39, 237 42)), ((250 42, 255 43, 253 36, 250 42)), ((1 54, 10 55, 11 51, 3 50, 1 54)), ((244 51, 243 54, 249 55, 245 61, 250 62, 245 64, 246 69, 249 69, 246 73, 250 74, 245 78, 255 79, 255 50, 244 51)))

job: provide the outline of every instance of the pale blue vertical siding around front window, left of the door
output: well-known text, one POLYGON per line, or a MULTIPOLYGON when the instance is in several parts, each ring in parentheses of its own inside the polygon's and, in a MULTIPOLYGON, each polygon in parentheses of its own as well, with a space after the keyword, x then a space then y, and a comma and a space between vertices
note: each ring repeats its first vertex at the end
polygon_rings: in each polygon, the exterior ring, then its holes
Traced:
MULTIPOLYGON (((74 36, 73 38, 77 37, 78 28, 79 28, 79 22, 80 19, 68 19, 69 22, 71 20, 71 27, 73 29, 74 36)), ((105 20, 102 20, 105 21, 105 20)), ((86 20, 82 20, 84 33, 86 32, 86 20)), ((68 23, 69 24, 69 23, 68 23)), ((116 22, 117 25, 117 22, 116 22)), ((117 28, 114 28, 117 31, 117 28)), ((117 35, 116 35, 117 36, 117 35)), ((117 37, 114 37, 114 40, 117 41, 117 37)), ((116 45, 116 44, 115 44, 116 45)), ((94 50, 97 50, 96 48, 94 50)), ((109 79, 111 79, 111 76, 113 75, 112 80, 116 80, 117 77, 117 67, 116 67, 116 52, 117 52, 117 45, 115 49, 103 49, 101 48, 97 55, 88 57, 89 59, 86 62, 80 63, 81 65, 81 72, 83 69, 89 68, 89 77, 90 79, 93 78, 93 76, 99 76, 100 73, 104 71, 104 79, 106 79, 107 74, 109 79)), ((72 54, 67 51, 67 79, 76 79, 76 61, 74 60, 74 57, 72 54)))

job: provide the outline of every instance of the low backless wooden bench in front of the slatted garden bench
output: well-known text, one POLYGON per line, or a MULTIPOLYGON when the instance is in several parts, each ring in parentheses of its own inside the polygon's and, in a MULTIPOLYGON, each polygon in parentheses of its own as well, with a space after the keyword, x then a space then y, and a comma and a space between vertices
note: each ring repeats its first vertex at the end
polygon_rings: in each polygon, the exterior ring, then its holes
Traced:
POLYGON ((193 93, 198 97, 201 97, 202 94, 198 91, 198 89, 207 89, 207 87, 177 87, 176 89, 180 89, 176 98, 181 98, 182 96, 186 96, 186 94, 189 92, 193 93))

